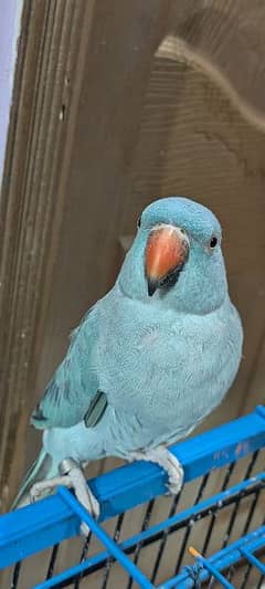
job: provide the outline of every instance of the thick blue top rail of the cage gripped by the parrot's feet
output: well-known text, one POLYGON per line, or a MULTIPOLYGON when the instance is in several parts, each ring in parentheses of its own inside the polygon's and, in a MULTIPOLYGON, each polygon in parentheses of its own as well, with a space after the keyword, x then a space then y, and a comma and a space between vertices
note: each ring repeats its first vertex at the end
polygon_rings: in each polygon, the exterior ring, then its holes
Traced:
MULTIPOLYGON (((171 448, 186 482, 265 445, 265 408, 171 448)), ((132 463, 89 481, 103 522, 166 492, 167 475, 156 464, 132 463)), ((0 568, 78 535, 80 522, 59 494, 0 517, 0 568)))

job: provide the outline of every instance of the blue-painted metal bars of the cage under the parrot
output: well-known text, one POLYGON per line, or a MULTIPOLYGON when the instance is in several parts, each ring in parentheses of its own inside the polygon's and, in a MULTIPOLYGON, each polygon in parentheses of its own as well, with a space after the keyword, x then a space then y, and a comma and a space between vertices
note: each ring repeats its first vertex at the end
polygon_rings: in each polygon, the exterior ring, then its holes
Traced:
MULTIPOLYGON (((243 456, 252 454, 264 446, 265 408, 257 407, 250 416, 181 442, 172 446, 171 451, 183 464, 186 483, 204 476, 203 488, 209 473, 213 470, 224 465, 233 466, 243 456)), ((227 483, 229 477, 226 476, 226 478, 227 483)), ((186 525, 188 532, 182 547, 183 551, 189 538, 189 523, 197 517, 203 517, 204 514, 211 513, 213 514, 212 518, 214 518, 216 509, 230 504, 235 506, 234 514, 236 514, 237 501, 248 495, 254 496, 254 511, 255 501, 265 485, 265 474, 262 472, 255 476, 246 477, 229 490, 226 488, 226 483, 220 493, 202 501, 201 490, 192 507, 177 514, 172 511, 163 522, 147 529, 145 529, 144 525, 139 534, 120 544, 114 541, 106 534, 100 523, 124 514, 142 503, 149 502, 149 506, 151 506, 153 499, 166 492, 167 476, 159 466, 151 463, 132 463, 89 481, 89 486, 100 503, 98 523, 91 518, 89 514, 67 490, 59 488, 57 494, 52 497, 0 517, 0 568, 6 568, 46 547, 57 545, 66 538, 78 535, 82 519, 88 524, 93 534, 100 540, 104 548, 103 551, 85 558, 84 561, 36 585, 35 588, 62 587, 62 583, 67 581, 67 579, 72 579, 84 571, 87 574, 89 570, 95 570, 102 564, 108 562, 109 558, 118 561, 128 572, 128 577, 131 579, 128 587, 131 586, 132 580, 144 588, 155 587, 157 571, 153 571, 152 579, 149 580, 137 566, 138 553, 141 547, 150 541, 160 540, 161 553, 167 543, 168 530, 186 525), (134 561, 127 556, 130 551, 135 554, 134 561)), ((176 506, 177 503, 174 508, 176 506)), ((232 526, 233 517, 231 522, 232 526)), ((211 528, 212 524, 209 527, 209 538, 211 528)), ((203 582, 211 576, 215 576, 223 587, 231 588, 233 585, 225 579, 222 571, 242 559, 247 561, 250 566, 256 567, 264 575, 264 565, 254 554, 262 547, 265 547, 264 526, 261 526, 256 532, 245 534, 230 546, 224 545, 221 551, 209 558, 199 556, 193 567, 183 569, 157 587, 161 589, 194 587, 194 582, 203 582)))

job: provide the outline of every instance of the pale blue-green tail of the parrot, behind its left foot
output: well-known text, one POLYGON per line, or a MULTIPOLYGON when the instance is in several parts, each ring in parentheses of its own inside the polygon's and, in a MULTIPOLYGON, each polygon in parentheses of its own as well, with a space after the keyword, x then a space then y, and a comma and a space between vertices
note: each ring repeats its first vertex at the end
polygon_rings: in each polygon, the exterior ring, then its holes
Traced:
POLYGON ((34 483, 51 478, 56 473, 53 472, 52 457, 42 449, 38 459, 25 474, 19 493, 11 505, 11 511, 23 507, 30 503, 30 490, 34 483))

